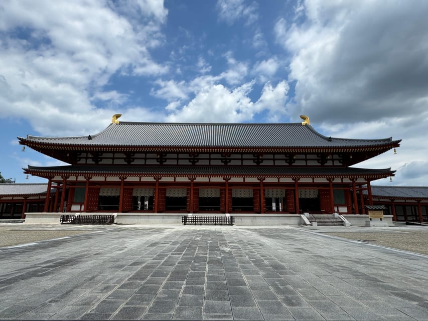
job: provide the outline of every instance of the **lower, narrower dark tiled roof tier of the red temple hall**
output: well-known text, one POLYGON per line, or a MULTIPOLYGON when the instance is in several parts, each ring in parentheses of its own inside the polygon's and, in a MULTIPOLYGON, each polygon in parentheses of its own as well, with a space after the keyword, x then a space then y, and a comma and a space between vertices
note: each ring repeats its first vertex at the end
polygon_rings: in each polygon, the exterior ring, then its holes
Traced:
POLYGON ((102 174, 134 174, 134 175, 248 175, 248 176, 340 176, 340 175, 385 175, 391 174, 391 169, 371 170, 359 168, 333 167, 244 167, 244 166, 57 166, 57 167, 28 167, 29 173, 99 173, 102 174))

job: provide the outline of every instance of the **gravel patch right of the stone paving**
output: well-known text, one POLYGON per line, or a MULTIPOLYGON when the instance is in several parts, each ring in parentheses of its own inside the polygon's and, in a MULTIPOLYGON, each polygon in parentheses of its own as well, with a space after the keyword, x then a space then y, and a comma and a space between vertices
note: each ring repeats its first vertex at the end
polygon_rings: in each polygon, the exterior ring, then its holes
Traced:
POLYGON ((402 233, 325 233, 351 240, 392 247, 428 255, 428 231, 400 231, 402 233))

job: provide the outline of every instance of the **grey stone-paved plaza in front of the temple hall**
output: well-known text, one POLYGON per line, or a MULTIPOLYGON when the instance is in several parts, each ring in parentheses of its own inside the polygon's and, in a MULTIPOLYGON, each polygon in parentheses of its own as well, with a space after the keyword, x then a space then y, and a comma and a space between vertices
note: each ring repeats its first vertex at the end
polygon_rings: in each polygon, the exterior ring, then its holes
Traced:
POLYGON ((83 229, 0 248, 0 319, 428 320, 426 255, 293 227, 83 229))

